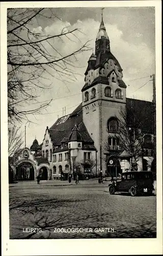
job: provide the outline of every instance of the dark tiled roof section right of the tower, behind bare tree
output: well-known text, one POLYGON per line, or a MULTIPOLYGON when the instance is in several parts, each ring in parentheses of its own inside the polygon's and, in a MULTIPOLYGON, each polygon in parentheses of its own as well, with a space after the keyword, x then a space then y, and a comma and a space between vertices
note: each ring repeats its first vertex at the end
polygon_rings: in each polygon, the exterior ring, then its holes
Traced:
POLYGON ((133 112, 135 112, 135 126, 142 133, 153 134, 153 103, 150 101, 126 98, 126 111, 128 125, 133 126, 133 112))

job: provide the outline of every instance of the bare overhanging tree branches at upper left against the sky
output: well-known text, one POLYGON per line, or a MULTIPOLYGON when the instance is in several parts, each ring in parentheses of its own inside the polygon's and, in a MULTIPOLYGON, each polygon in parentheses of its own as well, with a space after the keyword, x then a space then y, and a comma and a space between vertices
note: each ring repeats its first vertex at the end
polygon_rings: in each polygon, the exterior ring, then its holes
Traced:
MULTIPOLYGON (((51 102, 38 102, 42 90, 50 88, 49 75, 63 82, 75 79, 77 55, 88 51, 88 41, 79 39, 79 30, 65 27, 56 33, 42 30, 42 24, 56 22, 53 9, 17 8, 7 12, 8 117, 9 122, 29 121, 51 102), (73 49, 71 44, 76 42, 73 49), (61 49, 69 44, 69 52, 61 49), (59 48, 58 46, 63 46, 59 48), (32 102, 38 103, 31 108, 32 102), (28 108, 28 109, 27 109, 28 108)), ((81 32, 82 33, 82 32, 81 32)))

